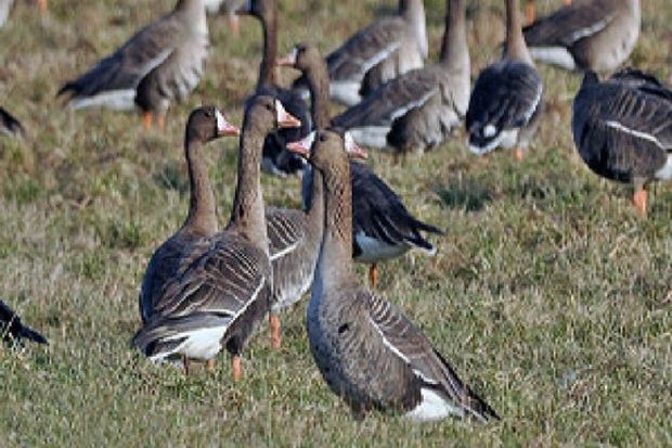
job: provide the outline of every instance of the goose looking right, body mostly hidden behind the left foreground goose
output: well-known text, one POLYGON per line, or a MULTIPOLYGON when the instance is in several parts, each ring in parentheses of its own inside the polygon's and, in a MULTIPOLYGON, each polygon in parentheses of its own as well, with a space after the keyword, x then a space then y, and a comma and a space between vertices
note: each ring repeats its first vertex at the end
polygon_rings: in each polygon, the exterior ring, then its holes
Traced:
POLYGON ((191 194, 189 213, 180 230, 158 246, 150 259, 139 296, 143 323, 154 313, 154 304, 161 297, 166 283, 175 277, 184 249, 219 230, 204 146, 219 137, 237 135, 238 129, 214 106, 198 107, 189 116, 184 132, 191 194))

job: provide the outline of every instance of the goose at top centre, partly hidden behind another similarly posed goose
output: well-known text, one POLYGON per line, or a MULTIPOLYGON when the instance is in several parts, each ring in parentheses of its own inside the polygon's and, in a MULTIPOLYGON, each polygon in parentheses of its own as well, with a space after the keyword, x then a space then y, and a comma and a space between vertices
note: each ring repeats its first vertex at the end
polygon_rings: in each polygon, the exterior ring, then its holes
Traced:
MULTIPOLYGON (((422 67, 427 52, 423 0, 399 0, 398 15, 356 33, 326 56, 329 95, 352 106, 382 84, 422 67)), ((306 78, 294 87, 306 89, 306 78)))

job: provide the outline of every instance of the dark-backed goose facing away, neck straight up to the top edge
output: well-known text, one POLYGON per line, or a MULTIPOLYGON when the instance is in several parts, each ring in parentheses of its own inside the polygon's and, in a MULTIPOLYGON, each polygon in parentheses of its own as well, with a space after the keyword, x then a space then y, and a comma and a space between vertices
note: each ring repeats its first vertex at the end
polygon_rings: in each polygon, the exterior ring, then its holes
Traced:
POLYGON ((516 159, 521 159, 539 124, 542 79, 522 38, 518 14, 518 0, 506 0, 504 57, 478 75, 469 99, 466 128, 474 154, 514 149, 516 159))

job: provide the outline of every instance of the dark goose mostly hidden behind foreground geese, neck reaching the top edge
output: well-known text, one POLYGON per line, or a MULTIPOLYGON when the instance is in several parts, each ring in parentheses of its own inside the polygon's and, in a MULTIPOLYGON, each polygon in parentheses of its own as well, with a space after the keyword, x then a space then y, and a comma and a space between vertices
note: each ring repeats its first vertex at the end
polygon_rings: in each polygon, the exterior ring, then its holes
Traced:
POLYGON ((270 133, 263 143, 262 167, 264 171, 277 176, 300 174, 305 162, 286 150, 286 144, 306 137, 311 128, 308 107, 300 93, 283 89, 277 84, 277 1, 248 0, 241 14, 251 15, 261 23, 263 30, 263 54, 259 65, 259 79, 256 94, 276 97, 292 115, 301 121, 296 129, 281 129, 270 133))

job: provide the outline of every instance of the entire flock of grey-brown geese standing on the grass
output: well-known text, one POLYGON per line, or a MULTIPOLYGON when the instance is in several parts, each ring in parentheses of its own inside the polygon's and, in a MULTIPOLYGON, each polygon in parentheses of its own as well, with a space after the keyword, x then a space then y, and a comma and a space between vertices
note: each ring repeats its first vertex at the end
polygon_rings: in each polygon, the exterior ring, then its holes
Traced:
MULTIPOLYGON (((176 9, 66 82, 73 108, 137 108, 143 125, 165 126, 172 101, 198 84, 208 54, 206 8, 220 1, 179 0, 176 9), (207 4, 206 4, 207 3, 207 4)), ((242 376, 241 355, 270 316, 281 344, 281 311, 309 290, 307 332, 313 358, 353 417, 392 410, 416 420, 457 415, 474 421, 496 412, 456 374, 423 332, 375 292, 376 264, 418 247, 441 230, 414 218, 371 168, 360 145, 422 153, 466 126, 468 149, 512 149, 524 157, 542 116, 543 79, 534 61, 585 72, 573 102, 572 132, 586 165, 599 176, 631 182, 637 210, 646 187, 672 177, 672 90, 636 69, 616 71, 639 33, 638 0, 574 0, 537 20, 528 1, 522 26, 518 0, 506 0, 502 59, 483 68, 474 87, 466 39, 466 0, 447 0, 439 60, 428 55, 423 0, 400 0, 398 15, 375 22, 323 57, 312 43, 277 55, 277 0, 225 2, 257 18, 263 54, 256 91, 242 127, 214 106, 186 121, 184 154, 190 204, 182 227, 153 254, 142 281, 142 325, 133 344, 154 361, 214 359, 222 350, 242 376), (300 72, 290 88, 277 67, 300 72), (306 99, 309 98, 309 106, 306 99), (346 106, 332 116, 331 101, 346 106), (238 137, 237 185, 229 223, 218 225, 205 163, 208 142, 238 137), (302 209, 264 204, 261 171, 302 172, 302 209), (371 264, 361 284, 353 261, 371 264)), ((559 5, 558 5, 559 7, 559 5)), ((3 131, 24 133, 0 112, 3 131)), ((47 341, 0 303, 3 338, 47 341)))

